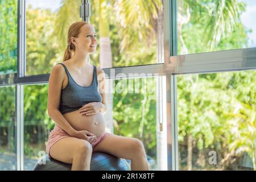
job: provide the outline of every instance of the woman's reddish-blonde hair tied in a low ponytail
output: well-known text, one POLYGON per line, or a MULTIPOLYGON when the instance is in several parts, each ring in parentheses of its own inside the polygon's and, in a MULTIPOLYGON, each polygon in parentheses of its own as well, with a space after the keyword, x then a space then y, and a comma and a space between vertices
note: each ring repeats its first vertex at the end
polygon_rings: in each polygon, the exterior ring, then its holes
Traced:
POLYGON ((71 59, 72 51, 76 51, 76 47, 72 43, 71 37, 77 38, 81 32, 81 27, 84 26, 85 24, 88 24, 88 22, 83 22, 83 21, 75 22, 71 24, 71 26, 68 28, 68 45, 67 45, 67 48, 65 49, 63 61, 71 59))

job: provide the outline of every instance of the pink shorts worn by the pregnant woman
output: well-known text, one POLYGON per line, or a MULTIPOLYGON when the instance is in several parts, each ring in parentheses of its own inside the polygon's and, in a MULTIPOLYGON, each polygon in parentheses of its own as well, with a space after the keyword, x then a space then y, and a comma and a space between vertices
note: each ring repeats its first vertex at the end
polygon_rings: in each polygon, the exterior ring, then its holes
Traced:
MULTIPOLYGON (((94 140, 92 143, 92 147, 96 146, 98 143, 100 143, 106 136, 108 136, 110 133, 104 133, 101 135, 101 137, 97 137, 96 140, 94 140)), ((48 153, 49 157, 51 155, 49 154, 51 147, 53 144, 55 144, 60 139, 63 139, 65 137, 70 137, 68 133, 66 133, 63 129, 61 129, 59 126, 55 125, 54 129, 50 132, 48 142, 46 145, 46 152, 48 153)))

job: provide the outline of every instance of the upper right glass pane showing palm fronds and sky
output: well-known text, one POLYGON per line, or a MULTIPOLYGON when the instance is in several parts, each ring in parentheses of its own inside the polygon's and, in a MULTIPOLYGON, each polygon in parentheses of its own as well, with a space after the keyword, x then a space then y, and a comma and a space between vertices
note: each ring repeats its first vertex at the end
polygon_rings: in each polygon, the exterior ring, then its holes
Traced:
POLYGON ((256 1, 177 1, 178 55, 256 47, 256 1))

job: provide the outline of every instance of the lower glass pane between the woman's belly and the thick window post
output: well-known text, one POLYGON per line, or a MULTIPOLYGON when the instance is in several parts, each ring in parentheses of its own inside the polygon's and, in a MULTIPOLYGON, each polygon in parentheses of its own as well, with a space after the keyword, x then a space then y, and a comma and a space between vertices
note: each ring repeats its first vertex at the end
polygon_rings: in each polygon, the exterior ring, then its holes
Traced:
MULTIPOLYGON (((114 125, 114 134, 125 137, 134 137, 141 140, 146 150, 151 170, 159 170, 157 156, 164 148, 164 138, 159 129, 156 129, 156 77, 148 78, 122 78, 112 80, 113 90, 106 89, 108 108, 113 118, 106 119, 114 125), (161 135, 162 136, 162 135, 161 135), (156 147, 158 146, 158 147, 156 147)), ((105 114, 105 115, 107 115, 105 114)), ((129 161, 128 161, 129 162, 129 161)))

